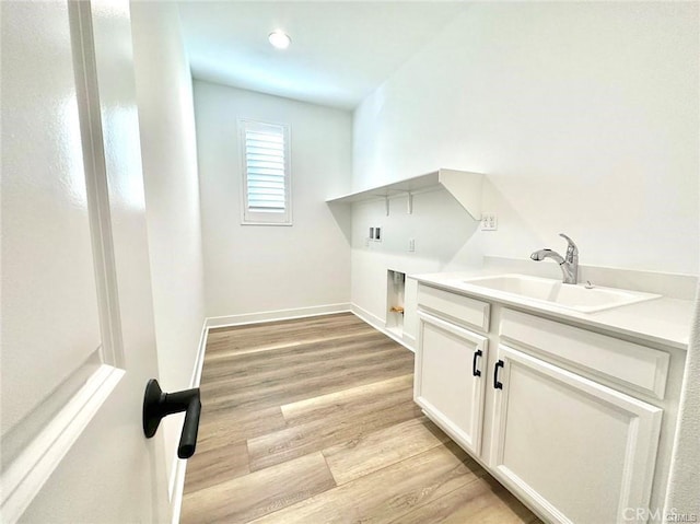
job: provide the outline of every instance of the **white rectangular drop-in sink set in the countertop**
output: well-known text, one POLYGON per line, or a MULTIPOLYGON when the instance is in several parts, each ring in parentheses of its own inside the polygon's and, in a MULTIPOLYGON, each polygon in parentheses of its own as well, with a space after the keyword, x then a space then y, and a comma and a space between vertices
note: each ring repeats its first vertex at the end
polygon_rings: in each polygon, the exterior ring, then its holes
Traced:
POLYGON ((559 280, 525 275, 480 277, 463 282, 475 288, 486 288, 499 294, 503 293, 582 313, 595 313, 661 296, 616 288, 587 288, 583 284, 567 284, 559 280))

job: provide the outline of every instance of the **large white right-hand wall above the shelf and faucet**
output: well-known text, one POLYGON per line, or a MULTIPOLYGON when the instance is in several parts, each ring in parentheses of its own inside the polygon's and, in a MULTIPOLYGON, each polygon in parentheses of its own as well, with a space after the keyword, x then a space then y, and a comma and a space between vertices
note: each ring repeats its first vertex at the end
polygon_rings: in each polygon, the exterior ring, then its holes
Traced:
POLYGON ((690 2, 476 2, 355 110, 353 188, 486 173, 485 255, 565 232, 582 264, 697 273, 697 27, 690 2))

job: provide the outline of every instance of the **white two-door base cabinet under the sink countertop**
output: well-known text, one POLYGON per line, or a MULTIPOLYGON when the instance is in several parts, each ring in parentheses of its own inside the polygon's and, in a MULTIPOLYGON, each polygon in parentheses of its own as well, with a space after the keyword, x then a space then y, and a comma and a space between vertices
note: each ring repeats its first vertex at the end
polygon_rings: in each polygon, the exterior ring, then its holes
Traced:
POLYGON ((423 283, 417 315, 416 403, 544 520, 657 512, 669 352, 423 283))

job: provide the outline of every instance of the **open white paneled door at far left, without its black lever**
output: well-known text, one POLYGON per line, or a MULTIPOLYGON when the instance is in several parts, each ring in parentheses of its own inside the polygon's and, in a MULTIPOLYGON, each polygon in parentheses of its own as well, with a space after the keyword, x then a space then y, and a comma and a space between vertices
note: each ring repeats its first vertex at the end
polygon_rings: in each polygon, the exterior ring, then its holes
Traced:
POLYGON ((165 522, 129 4, 0 9, 0 520, 165 522))

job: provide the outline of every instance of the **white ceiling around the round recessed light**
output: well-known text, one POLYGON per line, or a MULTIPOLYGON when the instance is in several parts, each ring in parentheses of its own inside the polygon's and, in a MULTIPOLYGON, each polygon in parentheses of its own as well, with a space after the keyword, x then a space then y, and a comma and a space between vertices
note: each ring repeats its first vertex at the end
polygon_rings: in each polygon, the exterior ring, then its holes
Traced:
POLYGON ((192 75, 316 104, 354 108, 463 2, 179 2, 192 75), (275 49, 268 35, 292 38, 275 49))

